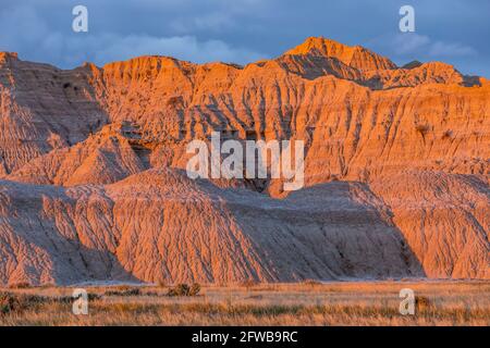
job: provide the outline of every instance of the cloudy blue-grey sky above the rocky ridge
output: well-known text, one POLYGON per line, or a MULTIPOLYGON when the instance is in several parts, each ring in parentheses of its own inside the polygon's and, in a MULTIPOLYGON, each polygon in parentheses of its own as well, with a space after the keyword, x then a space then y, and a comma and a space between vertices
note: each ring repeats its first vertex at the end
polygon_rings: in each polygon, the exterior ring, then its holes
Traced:
POLYGON ((143 54, 247 63, 324 36, 490 77, 489 16, 489 0, 0 0, 0 51, 65 69, 143 54), (72 30, 76 4, 88 33, 72 30), (415 33, 400 33, 404 4, 415 33))

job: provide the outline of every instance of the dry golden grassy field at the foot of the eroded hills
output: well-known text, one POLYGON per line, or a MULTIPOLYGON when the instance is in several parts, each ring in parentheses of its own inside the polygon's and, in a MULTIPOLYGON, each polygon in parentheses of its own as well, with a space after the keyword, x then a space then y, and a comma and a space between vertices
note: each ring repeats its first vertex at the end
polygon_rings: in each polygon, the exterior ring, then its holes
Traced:
POLYGON ((73 288, 0 289, 0 325, 490 325, 490 282, 376 282, 203 287, 87 287, 87 315, 72 313, 73 288), (417 298, 399 311, 402 288, 417 298))

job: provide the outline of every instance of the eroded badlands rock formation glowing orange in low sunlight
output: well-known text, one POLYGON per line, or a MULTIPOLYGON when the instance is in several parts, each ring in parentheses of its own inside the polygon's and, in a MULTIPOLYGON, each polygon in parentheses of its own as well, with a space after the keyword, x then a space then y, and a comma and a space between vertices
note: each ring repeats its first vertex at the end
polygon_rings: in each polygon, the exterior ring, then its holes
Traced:
POLYGON ((246 66, 0 53, 0 284, 490 278, 490 83, 309 38, 246 66), (306 187, 186 146, 302 139, 306 187))

